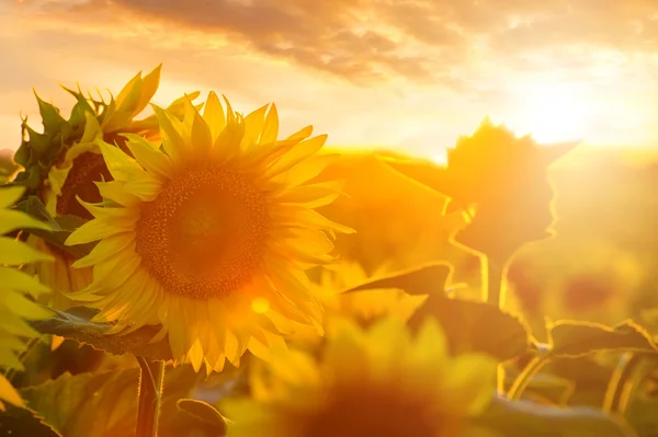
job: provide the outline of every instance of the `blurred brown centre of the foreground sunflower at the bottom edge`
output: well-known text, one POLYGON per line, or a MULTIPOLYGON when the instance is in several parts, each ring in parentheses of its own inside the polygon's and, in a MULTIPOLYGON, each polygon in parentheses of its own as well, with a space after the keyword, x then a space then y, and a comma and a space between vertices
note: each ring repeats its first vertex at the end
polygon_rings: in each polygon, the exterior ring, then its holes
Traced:
POLYGON ((421 393, 364 387, 334 394, 306 422, 305 437, 447 437, 462 426, 460 418, 432 411, 431 396, 421 393))

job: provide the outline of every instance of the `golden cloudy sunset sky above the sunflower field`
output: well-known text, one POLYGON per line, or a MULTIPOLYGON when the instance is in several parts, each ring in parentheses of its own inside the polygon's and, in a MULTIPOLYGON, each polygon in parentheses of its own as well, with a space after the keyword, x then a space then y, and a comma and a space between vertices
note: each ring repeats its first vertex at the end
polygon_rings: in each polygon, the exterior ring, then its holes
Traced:
POLYGON ((489 116, 543 143, 658 147, 655 0, 0 0, 0 149, 33 89, 276 103, 282 133, 439 159, 489 116))

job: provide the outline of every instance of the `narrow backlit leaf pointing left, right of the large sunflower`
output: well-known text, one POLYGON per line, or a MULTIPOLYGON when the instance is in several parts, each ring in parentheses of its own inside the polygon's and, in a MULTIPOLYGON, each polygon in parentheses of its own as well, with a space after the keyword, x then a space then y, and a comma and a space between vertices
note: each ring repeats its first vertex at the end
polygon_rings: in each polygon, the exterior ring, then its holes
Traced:
POLYGON ((412 296, 436 295, 444 296, 447 279, 453 274, 453 266, 444 262, 434 262, 396 272, 381 278, 352 287, 344 292, 372 290, 381 288, 399 288, 412 296))

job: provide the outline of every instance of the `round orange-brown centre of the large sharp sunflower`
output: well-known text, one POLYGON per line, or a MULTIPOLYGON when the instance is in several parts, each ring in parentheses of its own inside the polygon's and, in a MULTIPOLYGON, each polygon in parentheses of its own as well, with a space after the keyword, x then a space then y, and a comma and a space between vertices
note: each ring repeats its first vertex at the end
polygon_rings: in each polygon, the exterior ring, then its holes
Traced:
POLYGON ((136 251, 167 291, 224 298, 258 268, 269 223, 263 194, 243 175, 222 166, 184 170, 143 205, 136 251))

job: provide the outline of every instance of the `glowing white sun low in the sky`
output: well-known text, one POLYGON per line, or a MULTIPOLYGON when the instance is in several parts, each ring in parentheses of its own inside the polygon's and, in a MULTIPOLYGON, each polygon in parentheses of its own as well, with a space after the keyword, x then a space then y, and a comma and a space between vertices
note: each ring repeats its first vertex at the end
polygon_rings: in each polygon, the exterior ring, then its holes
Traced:
POLYGON ((506 120, 517 134, 541 143, 587 137, 591 100, 577 84, 530 82, 518 88, 515 115, 506 120))

